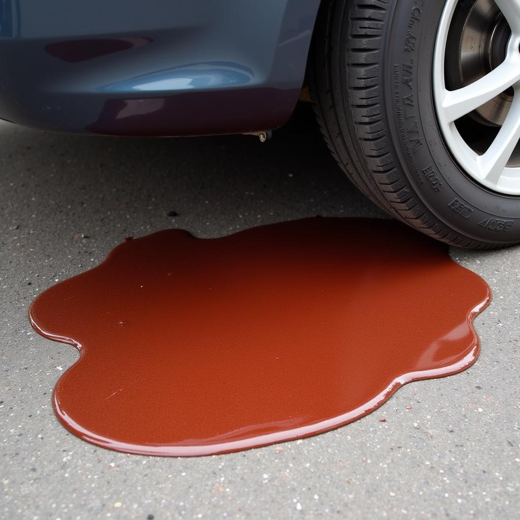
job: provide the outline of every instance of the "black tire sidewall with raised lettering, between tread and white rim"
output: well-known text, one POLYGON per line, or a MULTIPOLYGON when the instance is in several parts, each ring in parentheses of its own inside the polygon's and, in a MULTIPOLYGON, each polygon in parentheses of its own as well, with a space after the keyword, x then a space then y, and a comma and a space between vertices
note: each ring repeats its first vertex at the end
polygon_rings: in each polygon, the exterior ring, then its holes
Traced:
POLYGON ((492 192, 471 179, 452 158, 437 123, 432 64, 444 6, 444 0, 394 0, 383 49, 389 134, 426 211, 475 240, 518 242, 520 197, 492 192))

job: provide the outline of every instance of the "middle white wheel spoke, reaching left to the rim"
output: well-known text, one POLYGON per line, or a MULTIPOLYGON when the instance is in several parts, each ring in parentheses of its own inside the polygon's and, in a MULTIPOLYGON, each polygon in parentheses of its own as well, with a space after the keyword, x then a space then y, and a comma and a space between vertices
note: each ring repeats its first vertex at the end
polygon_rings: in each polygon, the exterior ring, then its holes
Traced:
MULTIPOLYGON (((509 0, 508 0, 509 1, 509 0)), ((520 2, 520 0, 514 0, 520 2)), ((471 85, 445 90, 442 106, 448 123, 457 121, 520 81, 520 55, 510 57, 471 85)))

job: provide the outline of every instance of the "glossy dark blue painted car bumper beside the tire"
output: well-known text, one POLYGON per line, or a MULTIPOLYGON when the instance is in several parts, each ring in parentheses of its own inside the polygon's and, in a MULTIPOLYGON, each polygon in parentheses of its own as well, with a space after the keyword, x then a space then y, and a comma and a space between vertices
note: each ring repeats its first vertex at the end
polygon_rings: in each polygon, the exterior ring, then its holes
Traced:
POLYGON ((277 128, 320 0, 4 0, 0 118, 54 132, 277 128))

